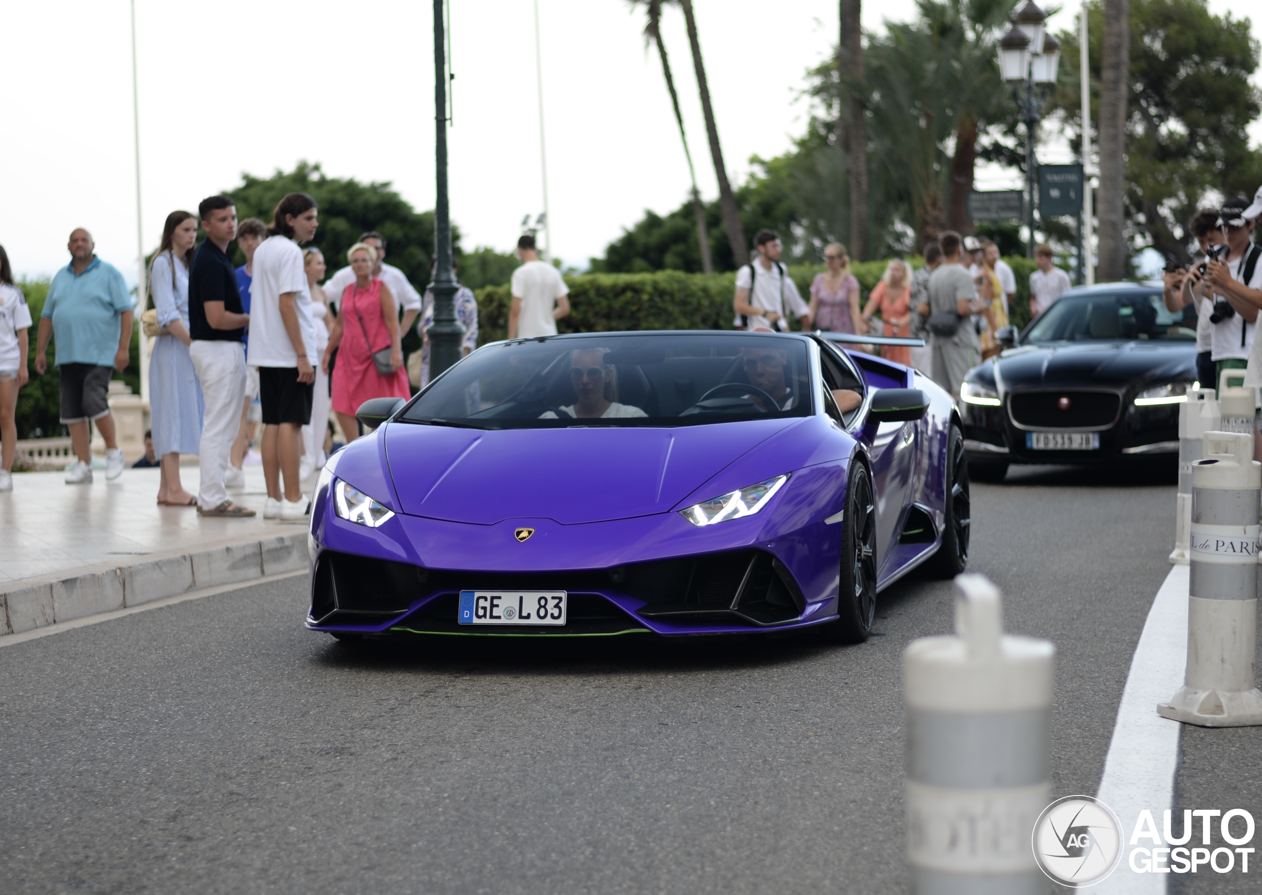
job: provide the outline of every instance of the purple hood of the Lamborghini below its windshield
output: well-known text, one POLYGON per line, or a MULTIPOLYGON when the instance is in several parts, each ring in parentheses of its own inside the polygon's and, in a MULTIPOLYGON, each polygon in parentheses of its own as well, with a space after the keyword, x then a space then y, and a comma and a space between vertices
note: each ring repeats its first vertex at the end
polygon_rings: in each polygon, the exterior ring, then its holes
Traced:
POLYGON ((409 516, 575 524, 664 513, 795 421, 497 431, 390 424, 385 445, 409 516))

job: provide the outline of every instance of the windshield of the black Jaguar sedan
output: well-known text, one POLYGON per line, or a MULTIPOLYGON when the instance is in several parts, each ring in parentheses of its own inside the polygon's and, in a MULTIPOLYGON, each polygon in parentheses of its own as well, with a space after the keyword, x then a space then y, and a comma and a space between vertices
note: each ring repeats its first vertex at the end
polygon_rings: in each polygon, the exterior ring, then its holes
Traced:
POLYGON ((1061 296, 1035 321, 1022 342, 1191 342, 1195 338, 1193 306, 1172 314, 1166 310, 1160 292, 1135 290, 1061 296))

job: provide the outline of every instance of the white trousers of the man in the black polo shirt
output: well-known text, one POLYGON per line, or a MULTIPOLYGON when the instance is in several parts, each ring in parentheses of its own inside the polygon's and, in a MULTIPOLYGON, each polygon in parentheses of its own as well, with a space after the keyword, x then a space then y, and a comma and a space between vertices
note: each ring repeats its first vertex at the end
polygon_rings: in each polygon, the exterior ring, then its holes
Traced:
POLYGON ((198 454, 202 483, 197 505, 215 509, 228 499, 223 488, 232 442, 241 426, 245 401, 245 352, 240 342, 193 342, 188 349, 193 369, 202 383, 206 416, 202 419, 202 445, 198 454))

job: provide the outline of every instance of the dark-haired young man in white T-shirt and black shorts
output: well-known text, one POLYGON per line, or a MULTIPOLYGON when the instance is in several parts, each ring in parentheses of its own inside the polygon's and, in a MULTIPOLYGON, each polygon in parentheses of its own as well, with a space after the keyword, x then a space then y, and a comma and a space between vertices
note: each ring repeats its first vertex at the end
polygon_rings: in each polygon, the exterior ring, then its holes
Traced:
POLYGON ((305 522, 310 503, 303 495, 298 464, 303 426, 312 419, 319 359, 299 246, 316 236, 316 199, 305 193, 290 193, 280 200, 268 228, 271 236, 254 252, 250 284, 247 362, 259 368, 262 474, 268 482, 262 518, 281 522, 305 522))

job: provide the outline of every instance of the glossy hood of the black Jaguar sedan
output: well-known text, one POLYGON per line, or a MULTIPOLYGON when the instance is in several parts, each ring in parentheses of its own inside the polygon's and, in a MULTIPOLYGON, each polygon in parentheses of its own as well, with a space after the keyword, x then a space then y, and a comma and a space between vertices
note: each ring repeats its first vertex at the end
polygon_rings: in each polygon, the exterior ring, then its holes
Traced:
POLYGON ((996 358, 992 372, 1003 390, 1039 386, 1116 386, 1146 379, 1195 377, 1191 342, 1088 342, 1022 345, 996 358))

